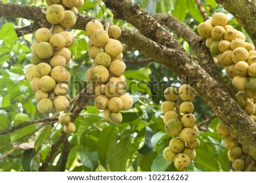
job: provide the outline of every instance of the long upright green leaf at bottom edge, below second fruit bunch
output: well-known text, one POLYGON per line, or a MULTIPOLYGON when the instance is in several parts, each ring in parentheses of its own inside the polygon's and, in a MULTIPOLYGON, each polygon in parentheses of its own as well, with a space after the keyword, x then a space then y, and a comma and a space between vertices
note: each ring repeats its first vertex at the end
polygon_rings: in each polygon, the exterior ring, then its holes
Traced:
POLYGON ((124 172, 126 170, 127 159, 131 151, 131 141, 127 137, 122 139, 112 151, 109 168, 113 172, 124 172))

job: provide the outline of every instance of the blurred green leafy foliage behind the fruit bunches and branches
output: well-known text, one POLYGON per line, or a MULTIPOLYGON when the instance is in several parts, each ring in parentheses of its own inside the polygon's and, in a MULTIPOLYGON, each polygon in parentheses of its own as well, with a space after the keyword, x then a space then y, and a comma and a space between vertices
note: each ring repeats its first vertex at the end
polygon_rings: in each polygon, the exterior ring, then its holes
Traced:
MULTIPOLYGON (((3 1, 47 7, 44 1, 3 1)), ((151 15, 168 13, 182 22, 187 23, 196 32, 197 25, 204 21, 194 0, 137 0, 142 9, 151 15)), ((208 15, 214 12, 226 11, 214 0, 202 1, 208 15)), ((99 19, 108 20, 118 26, 134 27, 122 20, 113 20, 110 10, 104 7, 105 14, 95 1, 85 0, 79 12, 99 19)), ((237 30, 243 30, 241 25, 228 14, 229 24, 237 30)), ((46 118, 36 111, 34 91, 24 77, 24 70, 30 64, 30 46, 35 41, 34 35, 17 38, 14 29, 26 26, 31 21, 22 18, 0 18, 0 131, 28 120, 46 118), (26 114, 26 115, 20 115, 26 114)), ((71 73, 71 98, 75 98, 85 88, 86 70, 91 67, 92 59, 88 56, 86 32, 84 30, 69 30, 75 36, 71 48, 72 61, 67 65, 71 73)), ((174 36, 183 44, 185 50, 193 56, 193 51, 187 42, 174 36)), ((246 40, 250 42, 246 34, 246 40)), ((181 81, 176 74, 165 66, 146 59, 141 53, 124 45, 123 52, 126 62, 125 77, 127 92, 133 94, 133 109, 123 112, 123 122, 118 125, 106 122, 101 111, 93 106, 90 99, 87 110, 83 110, 75 120, 76 132, 68 135, 69 145, 61 144, 48 171, 59 171, 65 157, 64 148, 68 148, 68 159, 65 169, 69 171, 177 171, 173 163, 164 160, 163 149, 167 147, 171 137, 164 130, 160 115, 160 103, 165 99, 163 91, 168 86, 181 81), (143 59, 146 61, 139 62, 143 59), (136 64, 137 63, 137 64, 136 64)), ((230 84, 225 70, 217 69, 230 84)), ((231 86, 231 85, 230 85, 231 86)), ((214 117, 207 104, 197 96, 193 101, 200 147, 196 149, 196 159, 186 171, 230 171, 230 161, 223 140, 216 132, 220 123, 214 117)), ((50 116, 55 115, 51 114, 50 116)), ((61 133, 58 123, 32 124, 15 130, 0 138, 0 170, 1 171, 38 171, 42 162, 51 151, 51 145, 56 142, 61 133), (22 150, 15 145, 25 142, 35 142, 35 147, 22 150), (8 155, 8 156, 7 156, 8 155), (4 157, 4 158, 3 158, 4 157)))

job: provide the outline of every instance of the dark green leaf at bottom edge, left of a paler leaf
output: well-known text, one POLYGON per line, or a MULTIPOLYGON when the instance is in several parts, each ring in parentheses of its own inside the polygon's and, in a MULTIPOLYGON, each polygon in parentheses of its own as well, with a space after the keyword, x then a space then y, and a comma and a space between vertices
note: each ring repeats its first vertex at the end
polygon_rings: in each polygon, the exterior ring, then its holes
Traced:
POLYGON ((156 157, 156 153, 152 151, 146 155, 139 154, 138 155, 139 168, 141 168, 143 172, 151 172, 151 166, 155 157, 156 157))

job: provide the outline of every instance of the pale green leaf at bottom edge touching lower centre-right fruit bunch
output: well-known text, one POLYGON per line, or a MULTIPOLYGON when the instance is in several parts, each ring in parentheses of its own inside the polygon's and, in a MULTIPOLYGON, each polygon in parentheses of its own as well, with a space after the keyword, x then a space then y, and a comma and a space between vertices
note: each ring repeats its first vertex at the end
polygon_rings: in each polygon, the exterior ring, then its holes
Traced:
POLYGON ((171 162, 166 161, 166 159, 164 159, 163 153, 159 153, 151 165, 151 171, 164 172, 170 165, 171 165, 171 162))

